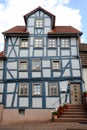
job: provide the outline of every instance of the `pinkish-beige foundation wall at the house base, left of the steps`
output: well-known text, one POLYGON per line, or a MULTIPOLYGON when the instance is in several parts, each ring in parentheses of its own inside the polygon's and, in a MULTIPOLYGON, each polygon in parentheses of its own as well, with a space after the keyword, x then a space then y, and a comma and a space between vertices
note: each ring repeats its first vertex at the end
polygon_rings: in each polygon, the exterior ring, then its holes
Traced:
POLYGON ((48 121, 51 120, 52 109, 26 109, 25 114, 19 114, 18 109, 4 109, 3 123, 17 121, 48 121))

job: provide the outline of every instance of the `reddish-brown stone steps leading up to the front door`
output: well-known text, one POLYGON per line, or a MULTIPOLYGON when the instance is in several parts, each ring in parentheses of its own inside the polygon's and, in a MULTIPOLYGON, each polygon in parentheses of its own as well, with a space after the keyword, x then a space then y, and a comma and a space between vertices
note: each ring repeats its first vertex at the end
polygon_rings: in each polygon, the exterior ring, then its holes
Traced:
POLYGON ((69 105, 61 117, 55 119, 58 122, 87 122, 87 111, 83 105, 69 105))

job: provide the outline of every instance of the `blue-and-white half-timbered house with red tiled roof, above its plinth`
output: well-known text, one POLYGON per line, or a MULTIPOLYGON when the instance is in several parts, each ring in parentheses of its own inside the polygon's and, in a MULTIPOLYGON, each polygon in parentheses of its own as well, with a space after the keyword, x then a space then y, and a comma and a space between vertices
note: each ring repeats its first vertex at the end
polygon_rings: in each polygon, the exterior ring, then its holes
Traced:
POLYGON ((3 32, 7 58, 0 77, 0 103, 4 110, 25 114, 62 103, 81 104, 78 46, 82 32, 72 26, 56 26, 55 16, 42 7, 24 15, 24 20, 25 26, 3 32))

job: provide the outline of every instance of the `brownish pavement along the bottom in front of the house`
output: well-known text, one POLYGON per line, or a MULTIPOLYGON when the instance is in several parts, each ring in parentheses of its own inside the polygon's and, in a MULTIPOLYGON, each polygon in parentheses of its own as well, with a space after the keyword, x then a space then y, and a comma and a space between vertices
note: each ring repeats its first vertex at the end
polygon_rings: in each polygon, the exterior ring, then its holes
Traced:
POLYGON ((82 123, 58 123, 58 122, 17 122, 0 124, 0 130, 87 130, 87 124, 82 123))

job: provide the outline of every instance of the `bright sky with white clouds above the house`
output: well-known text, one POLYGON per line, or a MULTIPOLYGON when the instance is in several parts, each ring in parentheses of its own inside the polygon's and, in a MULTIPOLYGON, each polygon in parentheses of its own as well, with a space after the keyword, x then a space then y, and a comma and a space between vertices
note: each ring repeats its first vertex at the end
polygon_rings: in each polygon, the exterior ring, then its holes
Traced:
POLYGON ((87 0, 0 0, 0 51, 4 49, 2 32, 25 25, 23 16, 38 6, 56 16, 56 26, 73 26, 83 32, 87 43, 87 0))

